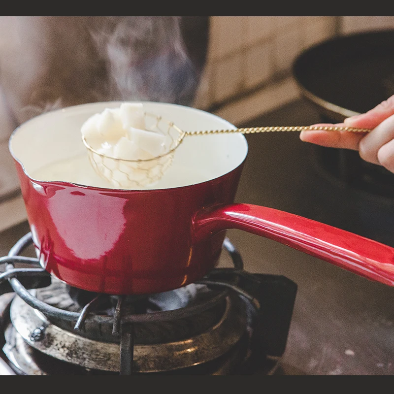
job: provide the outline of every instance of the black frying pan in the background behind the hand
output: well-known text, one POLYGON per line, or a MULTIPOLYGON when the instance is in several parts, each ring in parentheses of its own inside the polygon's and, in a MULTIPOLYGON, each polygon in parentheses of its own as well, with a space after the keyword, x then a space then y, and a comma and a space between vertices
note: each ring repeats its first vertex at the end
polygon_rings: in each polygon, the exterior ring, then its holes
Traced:
POLYGON ((342 36, 301 53, 296 81, 322 114, 341 122, 394 95, 394 30, 342 36))

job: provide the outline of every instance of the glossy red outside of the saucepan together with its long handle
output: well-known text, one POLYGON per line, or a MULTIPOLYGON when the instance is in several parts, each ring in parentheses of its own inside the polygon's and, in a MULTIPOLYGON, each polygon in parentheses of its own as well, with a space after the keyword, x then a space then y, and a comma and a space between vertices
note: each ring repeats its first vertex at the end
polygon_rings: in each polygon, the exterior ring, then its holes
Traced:
MULTIPOLYGON (((95 109, 96 104, 92 105, 95 109)), ((106 103, 97 105, 102 107, 106 103)), ((219 119, 170 104, 160 103, 158 109, 162 106, 174 110, 174 116, 184 113, 183 120, 188 119, 194 126, 201 119, 209 118, 208 126, 219 119)), ((84 108, 93 110, 76 106, 49 118, 65 120, 68 113, 79 114, 81 110, 84 114, 84 108)), ((26 136, 40 148, 37 141, 48 138, 44 133, 41 139, 36 138, 35 133, 50 129, 45 122, 38 124, 42 127, 24 128, 19 148, 15 143, 30 165, 34 163, 35 151, 21 149, 26 136)), ((67 142, 69 129, 64 129, 65 139, 58 144, 67 142)), ((78 128, 74 131, 79 141, 80 131, 78 128)), ((236 159, 229 162, 227 173, 221 172, 225 175, 194 185, 157 190, 36 181, 25 172, 23 159, 14 156, 40 263, 69 285, 92 292, 125 295, 164 292, 206 275, 218 262, 225 230, 239 229, 273 239, 365 278, 394 285, 393 248, 287 212, 234 204, 243 154, 247 152, 245 143, 238 156, 240 145, 233 145, 231 153, 236 159)), ((227 148, 223 149, 222 159, 226 161, 231 155, 227 148)), ((42 154, 48 150, 44 146, 42 154)), ((52 156, 55 160, 56 155, 52 156)), ((211 164, 215 166, 217 162, 211 164)))

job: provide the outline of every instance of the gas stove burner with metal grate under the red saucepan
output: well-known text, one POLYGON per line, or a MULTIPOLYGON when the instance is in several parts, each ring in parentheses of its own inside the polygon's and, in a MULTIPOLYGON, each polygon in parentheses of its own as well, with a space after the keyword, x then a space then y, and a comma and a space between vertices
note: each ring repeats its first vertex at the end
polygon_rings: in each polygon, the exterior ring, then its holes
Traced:
POLYGON ((234 265, 196 283, 138 296, 87 292, 50 276, 22 237, 0 259, 1 359, 17 375, 274 374, 296 284, 234 265), (24 267, 18 267, 24 265, 24 267))

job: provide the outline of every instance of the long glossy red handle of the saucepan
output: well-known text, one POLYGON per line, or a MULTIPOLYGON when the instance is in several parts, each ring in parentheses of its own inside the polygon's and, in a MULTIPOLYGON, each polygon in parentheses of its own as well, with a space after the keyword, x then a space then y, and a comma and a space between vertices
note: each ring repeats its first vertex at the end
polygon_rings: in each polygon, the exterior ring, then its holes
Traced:
POLYGON ((244 230, 394 286, 394 248, 292 213, 231 204, 200 211, 194 225, 197 241, 226 229, 244 230))

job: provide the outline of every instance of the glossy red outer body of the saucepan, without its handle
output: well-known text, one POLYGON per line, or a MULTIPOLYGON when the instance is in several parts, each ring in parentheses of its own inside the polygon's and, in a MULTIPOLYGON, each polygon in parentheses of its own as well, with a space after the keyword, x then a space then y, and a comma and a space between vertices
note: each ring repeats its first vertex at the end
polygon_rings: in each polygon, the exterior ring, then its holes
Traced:
POLYGON ((108 294, 172 290, 212 269, 225 233, 196 242, 193 218, 233 201, 242 167, 187 187, 122 191, 33 181, 16 166, 43 266, 71 286, 108 294))

